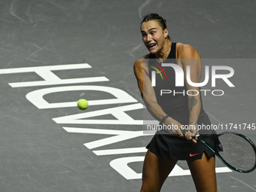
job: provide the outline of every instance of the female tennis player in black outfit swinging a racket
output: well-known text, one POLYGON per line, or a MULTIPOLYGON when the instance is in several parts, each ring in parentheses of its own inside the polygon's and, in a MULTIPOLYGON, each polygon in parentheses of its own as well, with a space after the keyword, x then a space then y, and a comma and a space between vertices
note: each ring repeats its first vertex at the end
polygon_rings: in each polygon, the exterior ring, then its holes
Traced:
MULTIPOLYGON (((147 146, 141 191, 160 191, 177 161, 187 160, 197 191, 215 192, 215 155, 193 139, 197 125, 210 125, 211 122, 203 110, 200 88, 188 84, 186 75, 187 66, 190 66, 190 80, 200 82, 200 54, 188 44, 172 42, 166 20, 158 14, 145 16, 140 29, 149 53, 134 63, 139 90, 148 111, 160 121, 160 125, 164 123, 166 127, 172 127, 157 131, 147 146), (164 66, 164 63, 174 66, 164 66), (175 86, 177 68, 184 72, 183 87, 175 86), (167 94, 161 90, 169 91, 167 94)), ((199 133, 215 132, 200 130, 199 133)), ((211 140, 207 142, 211 143, 211 140)))

